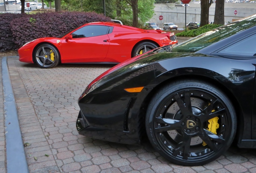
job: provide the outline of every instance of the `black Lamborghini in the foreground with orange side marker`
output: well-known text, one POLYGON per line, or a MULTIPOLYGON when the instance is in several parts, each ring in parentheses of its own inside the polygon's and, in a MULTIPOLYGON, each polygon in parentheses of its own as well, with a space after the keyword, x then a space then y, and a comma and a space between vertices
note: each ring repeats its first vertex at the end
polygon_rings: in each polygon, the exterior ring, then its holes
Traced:
POLYGON ((147 135, 185 166, 214 161, 231 143, 256 148, 255 45, 256 14, 122 62, 85 88, 76 129, 125 144, 147 135))

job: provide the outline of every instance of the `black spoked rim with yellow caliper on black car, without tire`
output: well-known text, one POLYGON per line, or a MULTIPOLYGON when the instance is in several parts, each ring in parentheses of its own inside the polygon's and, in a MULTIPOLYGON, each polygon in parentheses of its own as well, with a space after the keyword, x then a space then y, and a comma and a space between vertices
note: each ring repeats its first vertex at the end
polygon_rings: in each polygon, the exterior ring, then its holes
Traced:
POLYGON ((227 143, 231 117, 225 103, 212 93, 184 89, 158 105, 153 130, 161 148, 172 157, 200 161, 227 143))

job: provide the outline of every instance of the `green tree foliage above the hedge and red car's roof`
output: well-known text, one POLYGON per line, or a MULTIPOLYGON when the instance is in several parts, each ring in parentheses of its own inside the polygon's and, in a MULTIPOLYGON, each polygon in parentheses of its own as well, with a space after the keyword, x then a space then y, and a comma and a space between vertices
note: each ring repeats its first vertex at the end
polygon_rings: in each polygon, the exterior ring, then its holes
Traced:
MULTIPOLYGON (((62 10, 81 11, 81 4, 83 4, 83 11, 103 13, 103 0, 62 0, 62 10)), ((154 14, 154 0, 138 0, 138 14, 136 26, 143 26, 143 24, 153 17, 154 14)), ((106 16, 112 19, 118 19, 125 25, 133 25, 133 10, 132 6, 126 0, 105 0, 106 16)))

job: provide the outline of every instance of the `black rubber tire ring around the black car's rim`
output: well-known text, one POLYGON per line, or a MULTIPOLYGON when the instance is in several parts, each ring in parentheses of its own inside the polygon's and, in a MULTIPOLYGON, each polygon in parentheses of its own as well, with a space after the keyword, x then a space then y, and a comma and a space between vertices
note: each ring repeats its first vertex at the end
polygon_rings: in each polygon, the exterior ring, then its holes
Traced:
POLYGON ((202 84, 202 82, 177 82, 176 84, 169 84, 165 87, 163 87, 154 97, 153 100, 151 100, 149 107, 147 109, 147 114, 146 114, 146 130, 147 130, 147 135, 149 137, 149 141, 153 145, 153 147, 166 159, 173 161, 173 163, 179 164, 179 165, 185 165, 185 166, 196 166, 196 165, 203 165, 205 163, 209 163, 210 161, 213 161, 220 157, 223 152, 225 152, 231 143, 233 142, 233 139, 235 137, 235 131, 237 127, 237 121, 236 121, 236 115, 234 112, 234 107, 231 104, 231 101, 228 99, 228 97, 225 96, 225 94, 215 88, 211 87, 209 84, 202 84), (178 83, 178 84, 177 84, 178 83), (218 99, 220 99, 223 103, 225 103, 225 107, 228 109, 230 115, 228 117, 228 122, 230 123, 231 126, 231 135, 230 138, 227 139, 227 142, 223 147, 215 154, 210 155, 209 157, 206 157, 204 160, 200 161, 184 161, 181 159, 176 159, 175 157, 169 155, 167 152, 161 150, 161 145, 157 141, 156 134, 153 131, 154 128, 154 119, 155 119, 155 114, 157 113, 157 110, 163 104, 163 101, 166 97, 169 95, 175 93, 176 91, 180 91, 183 89, 202 89, 204 91, 208 91, 211 94, 215 95, 218 99))

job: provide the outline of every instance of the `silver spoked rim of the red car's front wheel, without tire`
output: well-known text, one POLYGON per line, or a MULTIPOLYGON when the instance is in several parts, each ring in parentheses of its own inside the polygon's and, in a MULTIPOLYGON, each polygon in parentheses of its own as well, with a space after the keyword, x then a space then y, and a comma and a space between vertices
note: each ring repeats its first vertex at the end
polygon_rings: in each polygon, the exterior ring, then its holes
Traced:
POLYGON ((56 54, 50 46, 42 46, 37 50, 35 58, 40 66, 50 67, 56 60, 56 54))

